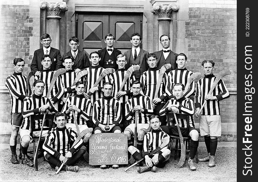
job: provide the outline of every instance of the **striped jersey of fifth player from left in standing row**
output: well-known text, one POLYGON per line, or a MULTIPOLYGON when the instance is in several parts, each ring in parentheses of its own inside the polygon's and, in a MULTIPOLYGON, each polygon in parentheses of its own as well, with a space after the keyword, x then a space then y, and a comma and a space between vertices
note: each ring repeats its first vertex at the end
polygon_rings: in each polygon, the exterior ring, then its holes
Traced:
MULTIPOLYGON (((126 69, 117 69, 116 72, 111 73, 109 75, 110 83, 113 84, 113 93, 112 93, 113 97, 117 95, 117 92, 120 89, 120 86, 124 80, 125 75, 126 75, 126 69)), ((126 91, 126 95, 123 95, 117 98, 120 100, 121 103, 125 103, 128 99, 131 98, 130 80, 131 80, 131 75, 128 77, 128 79, 124 84, 123 89, 121 90, 121 91, 126 91)))

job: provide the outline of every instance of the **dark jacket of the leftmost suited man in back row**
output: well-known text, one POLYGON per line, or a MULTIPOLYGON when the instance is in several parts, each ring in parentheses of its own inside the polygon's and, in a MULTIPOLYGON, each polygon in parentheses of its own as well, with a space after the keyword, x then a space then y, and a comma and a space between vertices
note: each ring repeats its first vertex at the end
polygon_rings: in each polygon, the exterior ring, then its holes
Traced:
MULTIPOLYGON (((34 56, 32 58, 32 62, 30 65, 30 69, 31 71, 34 71, 34 74, 36 73, 36 71, 43 70, 43 66, 41 64, 41 58, 43 56, 44 56, 43 48, 37 49, 36 51, 34 51, 34 56)), ((58 49, 51 47, 49 51, 49 56, 51 57, 51 60, 52 60, 52 64, 50 67, 51 71, 55 71, 60 68, 63 68, 63 65, 62 65, 63 59, 58 49)))

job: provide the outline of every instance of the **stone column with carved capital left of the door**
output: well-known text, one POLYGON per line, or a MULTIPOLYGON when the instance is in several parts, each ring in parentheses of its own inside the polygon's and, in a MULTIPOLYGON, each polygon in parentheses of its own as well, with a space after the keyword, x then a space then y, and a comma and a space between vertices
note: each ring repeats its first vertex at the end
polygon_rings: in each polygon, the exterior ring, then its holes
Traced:
POLYGON ((61 12, 66 12, 68 6, 66 2, 49 3, 46 1, 40 2, 40 9, 47 10, 46 21, 46 33, 51 36, 51 47, 59 49, 59 37, 60 37, 60 19, 61 12))

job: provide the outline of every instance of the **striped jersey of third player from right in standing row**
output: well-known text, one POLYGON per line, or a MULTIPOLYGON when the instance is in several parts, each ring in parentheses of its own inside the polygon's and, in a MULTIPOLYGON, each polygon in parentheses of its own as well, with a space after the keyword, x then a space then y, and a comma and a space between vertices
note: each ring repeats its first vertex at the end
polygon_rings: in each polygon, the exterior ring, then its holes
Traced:
MULTIPOLYGON (((159 75, 159 69, 158 67, 155 68, 149 68, 147 71, 143 72, 141 75, 141 84, 142 84, 142 91, 144 95, 149 96, 151 101, 154 99, 154 95, 156 92, 156 85, 158 82, 158 75, 159 75)), ((158 92, 158 98, 161 99, 161 103, 163 103, 166 93, 165 91, 165 85, 166 85, 166 73, 163 75, 163 80, 161 82, 161 85, 159 87, 159 92, 158 92)))

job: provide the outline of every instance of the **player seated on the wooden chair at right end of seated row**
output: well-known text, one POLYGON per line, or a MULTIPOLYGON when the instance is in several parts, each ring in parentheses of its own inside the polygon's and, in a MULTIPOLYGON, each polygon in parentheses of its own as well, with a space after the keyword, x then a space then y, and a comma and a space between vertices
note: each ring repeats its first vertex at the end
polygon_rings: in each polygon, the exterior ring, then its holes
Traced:
MULTIPOLYGON (((182 83, 176 83, 174 85, 174 98, 171 98, 168 100, 166 105, 160 110, 160 115, 163 116, 165 113, 180 113, 180 114, 187 114, 190 116, 190 122, 189 122, 189 131, 181 131, 183 136, 190 136, 190 157, 188 160, 188 166, 190 170, 196 170, 195 164, 193 163, 193 159, 195 157, 197 147, 199 146, 199 133, 195 129, 194 125, 194 119, 193 119, 193 114, 194 114, 194 105, 193 101, 189 98, 185 98, 184 92, 185 92, 185 86, 182 83)), ((184 127, 186 128, 186 120, 178 120, 179 127, 184 127)), ((178 135, 178 130, 171 129, 172 133, 169 132, 168 126, 161 126, 161 129, 165 133, 169 134, 176 134, 178 135)))

